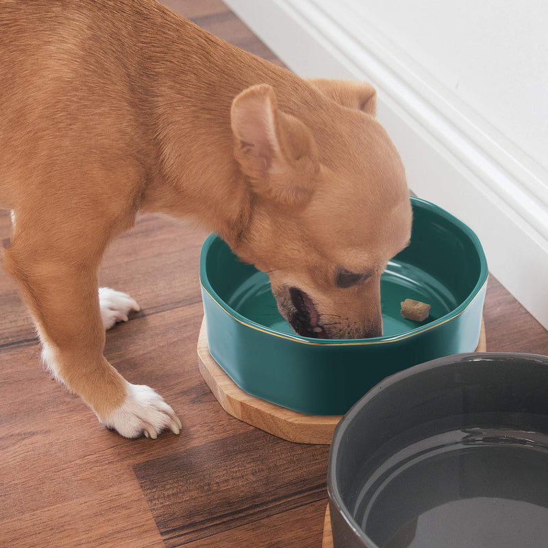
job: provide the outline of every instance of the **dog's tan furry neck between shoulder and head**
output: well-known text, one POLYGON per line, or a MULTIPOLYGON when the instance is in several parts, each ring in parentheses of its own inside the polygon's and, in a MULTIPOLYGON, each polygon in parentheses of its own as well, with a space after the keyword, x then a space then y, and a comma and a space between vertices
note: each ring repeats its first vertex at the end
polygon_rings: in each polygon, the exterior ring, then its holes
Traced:
POLYGON ((253 199, 234 158, 230 108, 254 84, 271 84, 288 110, 303 115, 318 95, 296 75, 219 40, 173 15, 158 21, 150 53, 157 151, 143 211, 194 216, 229 244, 249 223, 253 199), (188 45, 192 43, 193 47, 188 45), (197 45, 200 45, 197 48, 197 45))

